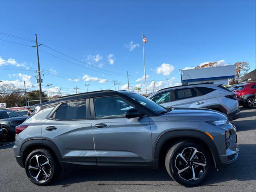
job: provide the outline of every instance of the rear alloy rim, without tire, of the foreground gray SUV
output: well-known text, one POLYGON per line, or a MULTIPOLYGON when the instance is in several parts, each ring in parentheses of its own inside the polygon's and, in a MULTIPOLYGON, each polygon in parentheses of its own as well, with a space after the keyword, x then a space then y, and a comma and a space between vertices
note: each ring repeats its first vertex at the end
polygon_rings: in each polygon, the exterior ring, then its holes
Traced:
POLYGON ((51 175, 51 170, 50 160, 42 154, 34 155, 29 161, 29 174, 37 182, 46 182, 51 175))

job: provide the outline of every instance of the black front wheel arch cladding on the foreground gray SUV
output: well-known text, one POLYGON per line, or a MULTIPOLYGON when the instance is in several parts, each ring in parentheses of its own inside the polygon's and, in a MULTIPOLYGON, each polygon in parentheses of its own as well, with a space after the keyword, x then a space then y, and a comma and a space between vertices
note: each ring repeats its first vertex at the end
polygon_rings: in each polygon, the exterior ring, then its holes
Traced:
POLYGON ((172 144, 184 140, 201 144, 209 152, 215 168, 218 168, 220 165, 220 156, 214 141, 205 133, 193 130, 175 130, 162 134, 160 138, 158 138, 154 148, 152 168, 156 169, 159 167, 163 158, 165 158, 167 150, 172 144))

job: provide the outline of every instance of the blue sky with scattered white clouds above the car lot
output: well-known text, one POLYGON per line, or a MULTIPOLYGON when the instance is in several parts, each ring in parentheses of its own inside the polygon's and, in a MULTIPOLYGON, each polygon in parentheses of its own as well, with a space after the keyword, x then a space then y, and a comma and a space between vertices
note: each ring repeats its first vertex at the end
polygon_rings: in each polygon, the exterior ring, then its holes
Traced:
MULTIPOLYGON (((114 89, 113 80, 126 89, 126 71, 130 87, 144 89, 142 32, 148 40, 148 89, 153 80, 156 89, 164 88, 166 78, 178 85, 179 69, 209 61, 247 61, 255 69, 255 1, 20 0, 0 1, 0 12, 2 40, 34 46, 3 33, 29 40, 37 33, 38 42, 77 59, 39 47, 43 89, 50 83, 52 92, 58 87, 74 94, 75 86, 86 92, 84 84, 90 84, 89 91, 114 89)), ((25 80, 28 90, 37 89, 35 48, 2 40, 0 79, 17 86, 25 80)))

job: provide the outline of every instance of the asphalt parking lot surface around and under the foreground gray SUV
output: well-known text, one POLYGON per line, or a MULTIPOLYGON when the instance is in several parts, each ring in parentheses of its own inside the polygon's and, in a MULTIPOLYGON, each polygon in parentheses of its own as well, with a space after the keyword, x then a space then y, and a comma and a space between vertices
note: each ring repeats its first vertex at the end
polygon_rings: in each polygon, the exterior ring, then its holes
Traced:
POLYGON ((50 186, 32 184, 16 163, 13 144, 0 147, 0 191, 253 191, 256 190, 256 110, 240 108, 237 128, 238 160, 213 171, 202 186, 186 188, 173 181, 165 169, 68 170, 50 186))

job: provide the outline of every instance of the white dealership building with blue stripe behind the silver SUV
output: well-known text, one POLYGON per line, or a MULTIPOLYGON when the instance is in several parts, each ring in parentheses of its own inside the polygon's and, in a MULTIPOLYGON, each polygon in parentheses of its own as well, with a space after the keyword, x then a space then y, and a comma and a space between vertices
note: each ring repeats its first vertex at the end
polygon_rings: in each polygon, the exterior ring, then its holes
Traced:
POLYGON ((181 70, 181 82, 183 85, 206 82, 228 85, 228 79, 234 77, 234 65, 181 70))

